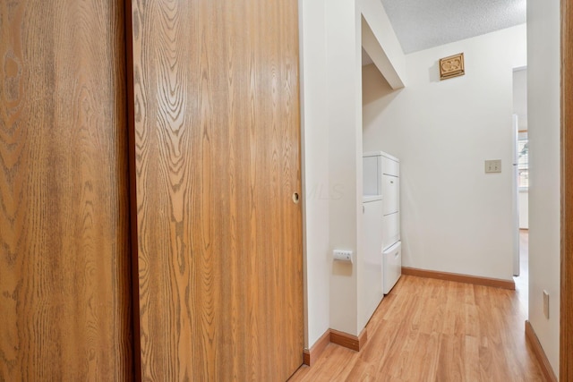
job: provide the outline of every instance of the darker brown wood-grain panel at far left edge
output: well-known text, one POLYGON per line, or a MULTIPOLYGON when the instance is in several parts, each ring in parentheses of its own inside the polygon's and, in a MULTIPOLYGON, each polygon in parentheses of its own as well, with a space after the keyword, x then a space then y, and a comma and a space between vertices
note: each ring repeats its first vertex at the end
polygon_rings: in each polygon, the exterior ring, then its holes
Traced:
POLYGON ((0 2, 0 380, 132 375, 123 20, 0 2))

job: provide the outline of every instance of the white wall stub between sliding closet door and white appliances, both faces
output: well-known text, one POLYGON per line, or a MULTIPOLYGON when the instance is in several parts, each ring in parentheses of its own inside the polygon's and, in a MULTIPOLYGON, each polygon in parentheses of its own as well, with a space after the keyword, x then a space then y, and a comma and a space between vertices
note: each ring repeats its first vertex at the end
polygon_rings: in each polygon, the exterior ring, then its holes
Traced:
MULTIPOLYGON (((380 2, 367 1, 367 13, 383 13, 380 2)), ((329 328, 350 335, 363 329, 363 320, 358 319, 363 310, 359 298, 363 285, 358 280, 364 271, 358 240, 362 232, 362 6, 363 0, 299 1, 307 348, 329 328), (334 262, 334 249, 353 250, 355 263, 334 262)), ((380 28, 373 32, 380 33, 380 28)), ((384 39, 397 41, 388 33, 384 39)), ((401 63, 400 52, 386 51, 392 63, 401 63)))

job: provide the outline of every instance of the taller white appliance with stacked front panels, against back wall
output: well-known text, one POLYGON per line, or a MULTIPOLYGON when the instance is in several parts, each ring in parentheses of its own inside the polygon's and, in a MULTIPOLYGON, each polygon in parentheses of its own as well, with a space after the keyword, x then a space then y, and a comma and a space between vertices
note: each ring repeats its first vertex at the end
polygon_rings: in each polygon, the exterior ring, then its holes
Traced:
POLYGON ((384 293, 402 274, 400 162, 383 151, 363 153, 363 194, 382 196, 382 279, 384 293))

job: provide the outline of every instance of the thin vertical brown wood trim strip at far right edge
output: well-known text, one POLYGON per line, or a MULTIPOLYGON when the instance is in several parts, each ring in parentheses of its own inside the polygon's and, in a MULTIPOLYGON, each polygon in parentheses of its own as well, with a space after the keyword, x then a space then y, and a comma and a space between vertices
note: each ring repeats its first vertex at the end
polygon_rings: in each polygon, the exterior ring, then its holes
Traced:
POLYGON ((573 379, 573 4, 561 0, 560 380, 573 379))

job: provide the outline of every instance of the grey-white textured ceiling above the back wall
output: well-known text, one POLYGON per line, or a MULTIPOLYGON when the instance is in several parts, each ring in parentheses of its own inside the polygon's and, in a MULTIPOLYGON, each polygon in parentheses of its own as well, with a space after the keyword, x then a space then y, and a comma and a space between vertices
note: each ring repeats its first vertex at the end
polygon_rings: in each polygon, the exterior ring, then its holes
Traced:
POLYGON ((526 0, 381 0, 404 53, 526 22, 526 0))

